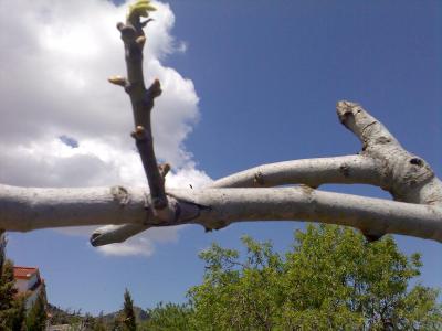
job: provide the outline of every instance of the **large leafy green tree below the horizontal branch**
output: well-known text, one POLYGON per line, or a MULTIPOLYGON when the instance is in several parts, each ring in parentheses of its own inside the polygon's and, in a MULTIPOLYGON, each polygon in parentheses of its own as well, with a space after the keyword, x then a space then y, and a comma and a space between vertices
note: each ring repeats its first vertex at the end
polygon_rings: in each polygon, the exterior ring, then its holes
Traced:
POLYGON ((309 225, 285 256, 242 242, 245 258, 215 244, 201 253, 203 282, 189 291, 198 330, 442 330, 438 290, 409 285, 419 254, 403 255, 391 236, 369 244, 309 225))

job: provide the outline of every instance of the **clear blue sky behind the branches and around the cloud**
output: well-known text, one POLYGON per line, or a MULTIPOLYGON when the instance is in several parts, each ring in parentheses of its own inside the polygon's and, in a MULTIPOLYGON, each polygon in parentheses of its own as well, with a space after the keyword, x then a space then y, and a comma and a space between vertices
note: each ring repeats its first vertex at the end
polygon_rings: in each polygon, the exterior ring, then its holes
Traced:
MULTIPOLYGON (((217 179, 262 163, 356 153, 359 141, 335 113, 336 102, 348 99, 360 103, 442 175, 440 1, 169 4, 177 47, 157 57, 191 79, 199 97, 198 115, 182 119, 192 128, 183 145, 196 169, 217 179)), ((108 22, 110 31, 114 24, 108 22)), ((56 137, 82 146, 82 134, 64 129, 56 137)), ((362 185, 323 189, 387 197, 362 185)), ((157 241, 149 256, 119 257, 97 253, 86 236, 48 229, 10 234, 8 254, 18 265, 40 267, 52 303, 97 313, 118 309, 126 287, 143 308, 182 301, 201 280, 197 255, 210 243, 239 247, 241 235, 249 234, 283 250, 299 227, 301 222, 248 223, 206 234, 187 226, 171 239, 157 241)), ((423 253, 420 280, 442 287, 441 244, 397 239, 404 252, 423 253)))

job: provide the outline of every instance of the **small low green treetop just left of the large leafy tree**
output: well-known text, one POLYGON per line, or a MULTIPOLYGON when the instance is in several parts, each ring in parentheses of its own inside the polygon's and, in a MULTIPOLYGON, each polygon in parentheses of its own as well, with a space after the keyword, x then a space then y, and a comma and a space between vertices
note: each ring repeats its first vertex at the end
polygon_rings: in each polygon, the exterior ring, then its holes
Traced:
POLYGON ((160 302, 154 309, 148 309, 149 319, 143 323, 140 330, 175 331, 198 330, 192 325, 193 309, 189 305, 160 302))

